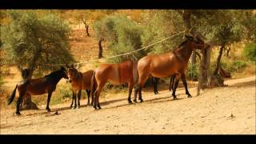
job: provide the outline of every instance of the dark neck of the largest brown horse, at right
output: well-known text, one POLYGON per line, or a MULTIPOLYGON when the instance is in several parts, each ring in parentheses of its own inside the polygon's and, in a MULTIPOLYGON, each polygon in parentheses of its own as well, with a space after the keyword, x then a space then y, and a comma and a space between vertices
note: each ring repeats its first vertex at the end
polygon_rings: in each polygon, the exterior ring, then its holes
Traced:
POLYGON ((187 41, 184 43, 184 45, 179 46, 177 50, 174 50, 174 52, 180 55, 186 62, 188 62, 193 51, 192 46, 193 43, 191 41, 187 41))

